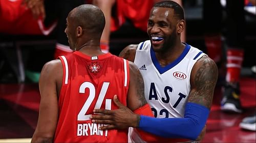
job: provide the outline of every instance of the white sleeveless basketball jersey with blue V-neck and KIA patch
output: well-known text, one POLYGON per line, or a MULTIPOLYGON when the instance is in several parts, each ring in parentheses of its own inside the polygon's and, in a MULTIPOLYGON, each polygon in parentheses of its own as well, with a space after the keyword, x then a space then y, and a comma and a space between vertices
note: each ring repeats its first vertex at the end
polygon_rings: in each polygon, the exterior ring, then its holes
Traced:
MULTIPOLYGON (((205 53, 186 44, 174 62, 162 67, 156 59, 150 40, 141 42, 134 63, 139 68, 145 87, 145 98, 156 118, 183 118, 190 91, 190 73, 205 53)), ((131 138, 137 138, 130 129, 131 138)), ((141 141, 141 140, 140 140, 141 141)))

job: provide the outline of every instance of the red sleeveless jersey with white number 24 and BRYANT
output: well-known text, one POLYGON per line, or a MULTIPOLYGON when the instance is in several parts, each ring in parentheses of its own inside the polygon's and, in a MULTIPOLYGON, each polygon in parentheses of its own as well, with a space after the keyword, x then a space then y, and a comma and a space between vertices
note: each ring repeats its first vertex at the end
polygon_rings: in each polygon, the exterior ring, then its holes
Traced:
POLYGON ((75 51, 59 56, 63 79, 58 99, 59 119, 54 142, 127 142, 128 130, 98 130, 93 109, 117 109, 114 95, 126 105, 128 61, 111 53, 88 56, 75 51))

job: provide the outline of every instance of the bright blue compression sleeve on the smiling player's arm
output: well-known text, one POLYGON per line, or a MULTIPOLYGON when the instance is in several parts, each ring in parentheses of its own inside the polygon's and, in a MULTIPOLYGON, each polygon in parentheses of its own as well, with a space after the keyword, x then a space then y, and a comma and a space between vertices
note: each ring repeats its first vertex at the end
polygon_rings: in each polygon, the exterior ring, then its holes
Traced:
POLYGON ((167 138, 197 139, 206 124, 210 110, 196 103, 187 103, 184 118, 152 118, 141 116, 139 129, 167 138))

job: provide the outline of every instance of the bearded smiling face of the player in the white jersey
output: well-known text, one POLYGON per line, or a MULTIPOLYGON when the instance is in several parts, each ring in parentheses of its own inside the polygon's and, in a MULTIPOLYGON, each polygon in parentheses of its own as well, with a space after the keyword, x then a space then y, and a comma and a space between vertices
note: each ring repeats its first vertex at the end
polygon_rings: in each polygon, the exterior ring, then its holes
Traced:
POLYGON ((180 19, 174 9, 153 7, 148 18, 147 34, 155 52, 166 51, 177 41, 177 25, 180 19))

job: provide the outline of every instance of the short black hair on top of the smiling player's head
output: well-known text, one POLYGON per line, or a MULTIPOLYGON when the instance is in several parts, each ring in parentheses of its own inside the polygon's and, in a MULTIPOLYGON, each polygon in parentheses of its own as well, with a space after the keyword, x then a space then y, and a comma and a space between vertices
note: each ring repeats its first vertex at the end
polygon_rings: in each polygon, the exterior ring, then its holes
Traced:
POLYGON ((174 2, 174 1, 162 1, 162 2, 156 3, 153 6, 153 8, 154 7, 172 8, 172 9, 174 9, 174 14, 178 15, 178 17, 180 19, 185 20, 183 8, 178 3, 174 2))

